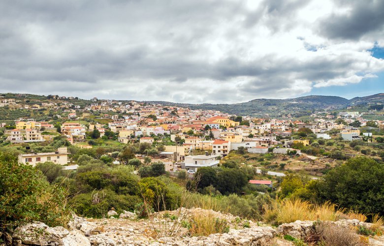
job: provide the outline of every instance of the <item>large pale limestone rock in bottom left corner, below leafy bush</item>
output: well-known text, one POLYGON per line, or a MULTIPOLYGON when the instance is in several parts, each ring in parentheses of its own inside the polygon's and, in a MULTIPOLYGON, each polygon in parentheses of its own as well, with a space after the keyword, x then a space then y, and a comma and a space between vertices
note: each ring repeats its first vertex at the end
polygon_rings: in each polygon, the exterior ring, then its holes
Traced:
POLYGON ((63 245, 62 236, 69 232, 63 227, 51 228, 42 222, 33 222, 16 228, 12 237, 26 245, 63 245))

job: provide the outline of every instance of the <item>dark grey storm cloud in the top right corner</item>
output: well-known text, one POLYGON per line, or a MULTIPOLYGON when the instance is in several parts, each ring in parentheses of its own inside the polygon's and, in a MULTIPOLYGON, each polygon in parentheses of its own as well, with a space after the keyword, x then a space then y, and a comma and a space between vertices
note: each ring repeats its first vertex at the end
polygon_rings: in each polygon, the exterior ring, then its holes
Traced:
POLYGON ((374 31, 384 31, 384 1, 340 1, 339 7, 349 7, 345 13, 332 13, 318 24, 320 34, 328 38, 359 39, 374 31))

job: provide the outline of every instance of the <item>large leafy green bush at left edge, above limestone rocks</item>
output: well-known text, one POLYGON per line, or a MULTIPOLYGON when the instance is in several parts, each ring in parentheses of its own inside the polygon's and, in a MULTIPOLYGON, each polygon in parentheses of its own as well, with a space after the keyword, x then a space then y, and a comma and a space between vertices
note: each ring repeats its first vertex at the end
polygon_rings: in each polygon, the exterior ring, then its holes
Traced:
POLYGON ((65 225, 69 211, 66 196, 58 185, 50 185, 40 171, 16 159, 0 160, 0 227, 41 221, 49 226, 65 225))

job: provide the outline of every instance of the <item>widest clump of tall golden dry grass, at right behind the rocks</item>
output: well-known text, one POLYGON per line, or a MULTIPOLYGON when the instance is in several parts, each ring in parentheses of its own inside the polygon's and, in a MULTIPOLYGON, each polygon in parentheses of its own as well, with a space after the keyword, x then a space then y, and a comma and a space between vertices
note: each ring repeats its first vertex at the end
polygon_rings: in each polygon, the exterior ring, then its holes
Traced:
POLYGON ((329 220, 336 221, 343 215, 336 205, 326 202, 314 206, 300 199, 277 200, 265 207, 264 219, 275 225, 290 223, 296 220, 329 220))

